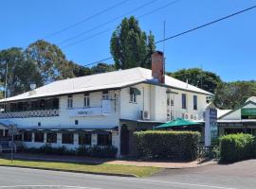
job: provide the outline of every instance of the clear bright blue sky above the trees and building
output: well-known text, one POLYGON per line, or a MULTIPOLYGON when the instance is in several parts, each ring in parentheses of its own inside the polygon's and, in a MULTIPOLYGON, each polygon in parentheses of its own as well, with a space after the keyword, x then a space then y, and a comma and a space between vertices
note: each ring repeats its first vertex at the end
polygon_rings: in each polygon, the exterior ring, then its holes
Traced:
MULTIPOLYGON (((0 1, 0 49, 12 46, 26 47, 38 39, 44 39, 65 26, 112 7, 122 0, 2 0, 0 1)), ((107 23, 126 12, 152 0, 130 0, 116 9, 111 9, 94 17, 82 25, 66 30, 46 39, 60 44, 81 32, 107 23)), ((240 9, 256 4, 252 0, 155 0, 152 4, 127 14, 136 17, 154 9, 165 7, 152 14, 139 17, 143 30, 153 31, 155 41, 163 38, 163 22, 166 22, 166 36, 199 26, 226 16, 240 9)), ((68 43, 60 44, 68 60, 87 64, 110 56, 109 41, 121 18, 108 25, 98 27, 68 43), (76 45, 70 43, 85 40, 76 45)), ((203 67, 215 72, 226 81, 256 79, 256 9, 232 17, 221 23, 205 27, 165 43, 167 71, 182 68, 203 67)), ((162 44, 157 45, 162 50, 162 44)), ((111 60, 107 62, 111 63, 111 60)))

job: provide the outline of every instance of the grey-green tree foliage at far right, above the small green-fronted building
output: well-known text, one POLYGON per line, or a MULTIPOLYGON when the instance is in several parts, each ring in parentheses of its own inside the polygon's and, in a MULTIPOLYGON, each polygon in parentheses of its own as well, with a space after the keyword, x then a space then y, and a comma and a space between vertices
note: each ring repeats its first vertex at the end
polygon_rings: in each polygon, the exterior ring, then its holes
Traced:
POLYGON ((213 101, 220 109, 235 109, 255 95, 256 81, 224 82, 217 86, 213 101))

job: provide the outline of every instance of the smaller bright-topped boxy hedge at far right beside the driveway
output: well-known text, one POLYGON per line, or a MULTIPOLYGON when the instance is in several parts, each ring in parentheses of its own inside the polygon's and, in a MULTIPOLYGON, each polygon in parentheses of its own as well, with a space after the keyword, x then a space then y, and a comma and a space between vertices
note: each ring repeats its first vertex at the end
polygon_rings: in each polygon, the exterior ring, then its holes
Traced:
POLYGON ((220 161, 238 162, 255 158, 255 138, 250 134, 229 134, 220 137, 220 161))

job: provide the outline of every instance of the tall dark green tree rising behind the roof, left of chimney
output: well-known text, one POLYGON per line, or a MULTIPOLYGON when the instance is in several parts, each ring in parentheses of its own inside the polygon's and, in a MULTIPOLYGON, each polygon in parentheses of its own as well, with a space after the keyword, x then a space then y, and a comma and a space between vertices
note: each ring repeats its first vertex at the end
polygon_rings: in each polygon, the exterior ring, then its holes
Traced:
POLYGON ((111 54, 117 69, 133 67, 151 68, 151 55, 155 51, 155 39, 147 37, 134 16, 124 18, 113 32, 110 41, 111 54))

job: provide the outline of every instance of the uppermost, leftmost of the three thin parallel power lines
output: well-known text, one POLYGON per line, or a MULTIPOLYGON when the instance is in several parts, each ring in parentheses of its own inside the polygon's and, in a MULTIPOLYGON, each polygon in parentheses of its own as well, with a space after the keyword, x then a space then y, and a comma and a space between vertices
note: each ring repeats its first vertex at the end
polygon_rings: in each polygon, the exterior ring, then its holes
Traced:
POLYGON ((64 27, 63 29, 60 29, 59 31, 56 31, 56 32, 51 33, 51 34, 47 35, 45 38, 43 38, 43 39, 46 40, 46 39, 51 38, 51 37, 53 37, 53 36, 56 36, 56 35, 58 35, 58 34, 60 34, 60 33, 63 33, 64 31, 66 31, 66 30, 68 30, 68 29, 71 29, 71 28, 73 28, 73 27, 75 27, 75 26, 82 25, 83 23, 85 23, 85 22, 87 22, 87 21, 89 21, 89 20, 91 20, 91 19, 93 19, 93 18, 95 18, 95 17, 101 15, 102 13, 105 13, 105 12, 111 10, 111 9, 115 9, 115 8, 117 8, 117 7, 119 7, 119 6, 121 6, 121 5, 125 4, 125 3, 127 3, 128 1, 130 1, 130 0, 124 0, 124 1, 119 2, 118 4, 115 4, 115 5, 112 6, 112 7, 109 7, 109 8, 107 8, 107 9, 103 9, 103 10, 97 12, 96 14, 94 14, 94 15, 92 15, 92 16, 89 16, 89 17, 87 17, 87 18, 82 19, 82 21, 79 21, 79 22, 77 22, 77 23, 75 23, 75 24, 73 24, 73 25, 70 25, 70 26, 66 26, 66 27, 64 27))

